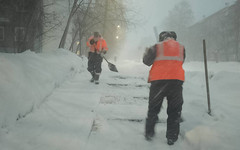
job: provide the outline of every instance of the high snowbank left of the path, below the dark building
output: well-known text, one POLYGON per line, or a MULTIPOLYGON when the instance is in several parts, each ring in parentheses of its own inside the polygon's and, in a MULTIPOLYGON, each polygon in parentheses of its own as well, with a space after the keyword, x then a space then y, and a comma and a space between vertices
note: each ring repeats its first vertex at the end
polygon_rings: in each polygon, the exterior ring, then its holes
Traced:
POLYGON ((0 126, 7 127, 34 111, 64 80, 83 71, 84 64, 63 49, 41 54, 1 53, 0 126))

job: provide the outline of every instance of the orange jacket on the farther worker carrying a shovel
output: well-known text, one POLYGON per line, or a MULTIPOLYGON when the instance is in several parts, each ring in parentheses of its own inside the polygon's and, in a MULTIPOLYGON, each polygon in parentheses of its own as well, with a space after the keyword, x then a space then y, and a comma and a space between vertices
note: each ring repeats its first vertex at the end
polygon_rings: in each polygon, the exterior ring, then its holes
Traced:
POLYGON ((90 41, 93 39, 94 37, 91 36, 88 41, 87 41, 87 46, 90 48, 89 51, 90 52, 101 52, 103 50, 107 51, 108 47, 107 47, 107 43, 103 38, 99 38, 99 40, 97 41, 97 43, 94 43, 93 45, 90 44, 90 41))

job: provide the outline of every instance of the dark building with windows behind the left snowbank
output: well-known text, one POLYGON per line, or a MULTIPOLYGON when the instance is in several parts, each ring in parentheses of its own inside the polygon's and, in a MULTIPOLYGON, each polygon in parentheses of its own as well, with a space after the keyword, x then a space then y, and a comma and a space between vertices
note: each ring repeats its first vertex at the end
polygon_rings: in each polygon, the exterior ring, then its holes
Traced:
POLYGON ((0 0, 0 52, 41 52, 42 0, 0 0))

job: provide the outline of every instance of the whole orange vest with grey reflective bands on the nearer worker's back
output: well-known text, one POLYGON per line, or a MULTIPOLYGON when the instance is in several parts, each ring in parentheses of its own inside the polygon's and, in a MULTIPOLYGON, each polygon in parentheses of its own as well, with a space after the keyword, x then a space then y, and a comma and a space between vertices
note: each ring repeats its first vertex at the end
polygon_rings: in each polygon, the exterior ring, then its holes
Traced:
POLYGON ((184 46, 173 39, 156 44, 156 58, 149 72, 148 81, 182 80, 185 73, 182 68, 184 46))

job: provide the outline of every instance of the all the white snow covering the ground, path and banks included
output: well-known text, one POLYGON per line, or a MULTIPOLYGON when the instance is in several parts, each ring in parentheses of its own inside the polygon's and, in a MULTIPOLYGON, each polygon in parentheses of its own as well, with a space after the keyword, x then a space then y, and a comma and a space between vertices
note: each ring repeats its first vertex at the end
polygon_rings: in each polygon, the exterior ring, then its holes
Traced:
POLYGON ((166 143, 166 101, 152 142, 144 139, 149 67, 103 62, 100 84, 89 82, 86 58, 66 50, 0 54, 1 150, 238 150, 240 64, 209 62, 212 116, 204 65, 186 62, 181 135, 166 143), (134 121, 135 119, 135 121, 134 121))

